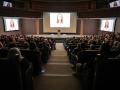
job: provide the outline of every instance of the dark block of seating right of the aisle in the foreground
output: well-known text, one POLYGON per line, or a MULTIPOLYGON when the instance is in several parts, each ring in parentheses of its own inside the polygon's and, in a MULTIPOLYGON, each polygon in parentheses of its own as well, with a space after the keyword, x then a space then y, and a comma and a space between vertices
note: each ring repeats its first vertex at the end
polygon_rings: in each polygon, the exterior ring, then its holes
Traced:
MULTIPOLYGON (((76 64, 77 76, 81 79, 83 90, 107 90, 119 88, 119 52, 112 51, 103 57, 99 49, 78 51, 72 54, 75 44, 64 43, 70 63, 76 64)), ((100 47, 100 45, 99 45, 100 47)))

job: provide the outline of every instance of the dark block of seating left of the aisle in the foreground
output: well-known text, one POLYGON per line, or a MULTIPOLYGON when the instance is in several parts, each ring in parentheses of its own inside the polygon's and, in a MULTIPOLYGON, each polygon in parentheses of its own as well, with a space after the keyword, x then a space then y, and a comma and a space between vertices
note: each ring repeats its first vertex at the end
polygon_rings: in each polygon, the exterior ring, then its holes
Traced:
MULTIPOLYGON (((48 62, 51 50, 38 48, 38 50, 20 49, 24 59, 30 62, 27 68, 22 68, 17 58, 9 59, 9 48, 0 49, 0 82, 6 90, 33 90, 32 77, 41 74, 43 64, 48 62), (12 62, 13 61, 13 62, 12 62)), ((23 63, 24 65, 24 63, 23 63)))

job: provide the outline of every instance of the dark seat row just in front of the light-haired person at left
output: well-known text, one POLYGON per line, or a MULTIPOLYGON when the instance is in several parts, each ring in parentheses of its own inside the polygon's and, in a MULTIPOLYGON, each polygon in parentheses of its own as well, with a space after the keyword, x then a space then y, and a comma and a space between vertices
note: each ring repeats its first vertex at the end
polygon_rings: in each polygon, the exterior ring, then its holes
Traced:
MULTIPOLYGON (((38 75, 42 70, 42 64, 47 63, 47 60, 49 59, 49 52, 44 51, 43 53, 40 51, 34 51, 29 49, 20 49, 21 54, 24 58, 26 58, 28 61, 32 62, 34 70, 33 74, 38 75)), ((0 49, 0 57, 5 58, 7 57, 9 52, 9 49, 2 48, 0 49)))

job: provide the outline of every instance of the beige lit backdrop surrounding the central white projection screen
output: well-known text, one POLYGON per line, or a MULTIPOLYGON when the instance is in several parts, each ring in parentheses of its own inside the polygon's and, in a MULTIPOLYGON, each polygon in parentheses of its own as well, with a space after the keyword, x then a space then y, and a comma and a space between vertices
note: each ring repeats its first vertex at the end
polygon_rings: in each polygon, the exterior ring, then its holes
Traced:
MULTIPOLYGON (((43 12, 43 33, 57 33, 58 30, 61 31, 61 33, 71 33, 76 34, 77 30, 77 12, 59 12, 59 13, 70 13, 70 27, 50 27, 50 13, 51 12, 43 12)), ((52 12, 54 13, 54 12, 52 12)), ((58 13, 58 12, 55 12, 58 13)))

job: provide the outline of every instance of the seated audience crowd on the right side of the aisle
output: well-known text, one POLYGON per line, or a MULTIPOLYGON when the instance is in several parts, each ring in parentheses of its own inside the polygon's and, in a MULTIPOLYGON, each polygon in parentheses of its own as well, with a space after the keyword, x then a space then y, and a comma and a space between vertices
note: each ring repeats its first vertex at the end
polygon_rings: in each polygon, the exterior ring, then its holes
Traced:
MULTIPOLYGON (((93 62, 91 61, 93 64, 90 61, 88 61, 88 63, 90 62, 89 64, 87 64, 86 62, 85 65, 82 65, 82 63, 80 63, 81 57, 82 57, 81 55, 84 54, 84 53, 80 53, 81 51, 93 50, 93 52, 95 51, 95 53, 93 54, 96 54, 98 51, 98 54, 100 55, 101 60, 105 60, 107 58, 114 58, 114 57, 120 58, 120 54, 119 54, 120 53, 120 34, 119 33, 114 34, 114 33, 107 32, 101 35, 85 35, 77 38, 76 37, 66 38, 64 41, 64 46, 65 46, 65 49, 67 50, 70 63, 72 62, 71 63, 73 65, 72 68, 75 70, 74 75, 77 75, 76 69, 78 70, 79 64, 80 64, 80 68, 81 66, 85 66, 85 68, 88 68, 86 66, 89 65, 91 69, 89 68, 88 70, 94 71, 93 70, 94 66, 92 66, 94 65, 94 61, 93 62), (71 49, 71 45, 76 45, 76 48, 71 49), (69 52, 69 49, 72 51, 69 52)), ((91 57, 82 57, 83 60, 85 59, 91 60, 91 58, 93 59, 94 57, 95 59, 96 57, 92 54, 89 54, 89 55, 91 55, 91 57)))

